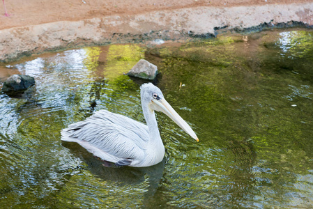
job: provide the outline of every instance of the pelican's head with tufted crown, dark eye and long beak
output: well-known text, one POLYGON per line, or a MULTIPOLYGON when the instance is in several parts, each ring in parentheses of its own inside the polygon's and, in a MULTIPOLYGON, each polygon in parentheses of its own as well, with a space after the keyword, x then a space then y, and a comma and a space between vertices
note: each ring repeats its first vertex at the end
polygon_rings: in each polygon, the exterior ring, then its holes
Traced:
POLYGON ((151 83, 142 84, 140 87, 142 97, 142 107, 148 105, 151 112, 162 111, 167 114, 179 127, 190 134, 192 138, 199 141, 197 135, 191 127, 179 116, 171 105, 165 100, 162 91, 151 83))

